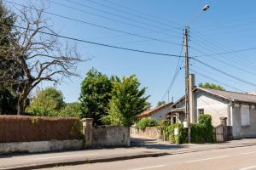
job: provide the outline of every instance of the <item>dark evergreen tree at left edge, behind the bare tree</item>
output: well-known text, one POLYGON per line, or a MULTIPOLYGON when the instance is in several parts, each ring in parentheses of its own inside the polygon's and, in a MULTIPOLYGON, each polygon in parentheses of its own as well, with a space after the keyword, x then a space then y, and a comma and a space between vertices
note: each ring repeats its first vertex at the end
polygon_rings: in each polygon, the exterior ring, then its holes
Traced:
MULTIPOLYGON (((14 22, 15 14, 9 12, 0 0, 0 77, 8 74, 8 71, 19 69, 9 59, 11 51, 5 50, 9 48, 9 39, 15 37, 12 26, 14 22)), ((12 77, 17 79, 19 75, 13 74, 12 77)), ((0 114, 16 114, 18 103, 17 88, 18 86, 15 84, 0 81, 0 114)))

